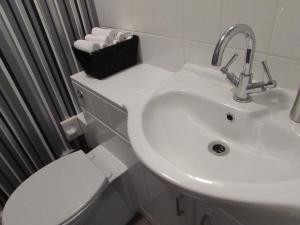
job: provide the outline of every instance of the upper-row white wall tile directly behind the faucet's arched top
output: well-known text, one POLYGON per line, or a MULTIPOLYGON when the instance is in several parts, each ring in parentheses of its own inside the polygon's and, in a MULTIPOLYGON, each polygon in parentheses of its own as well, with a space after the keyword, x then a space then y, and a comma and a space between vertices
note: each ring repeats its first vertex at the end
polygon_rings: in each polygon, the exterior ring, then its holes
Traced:
MULTIPOLYGON (((225 0, 223 8, 222 32, 233 24, 250 25, 256 35, 257 50, 267 53, 276 14, 277 0, 225 0)), ((234 38, 231 47, 244 48, 241 37, 234 38)))

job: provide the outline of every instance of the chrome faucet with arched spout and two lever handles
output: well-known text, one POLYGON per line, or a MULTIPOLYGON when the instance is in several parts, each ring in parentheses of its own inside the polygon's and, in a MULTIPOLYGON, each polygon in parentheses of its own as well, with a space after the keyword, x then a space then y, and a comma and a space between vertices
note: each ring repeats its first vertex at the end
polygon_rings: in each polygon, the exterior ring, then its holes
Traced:
POLYGON ((255 53, 256 39, 251 27, 246 24, 236 24, 226 30, 215 47, 211 64, 213 66, 221 66, 224 51, 230 40, 237 34, 244 34, 247 42, 243 71, 239 76, 235 75, 233 72, 229 72, 229 67, 238 57, 238 54, 234 54, 229 62, 221 68, 221 72, 226 75, 227 79, 235 87, 233 99, 238 102, 251 102, 252 98, 250 94, 264 92, 266 91, 266 89, 275 88, 277 86, 276 81, 272 79, 266 61, 263 61, 262 64, 267 74, 268 82, 260 81, 253 83, 252 81, 252 65, 255 53))

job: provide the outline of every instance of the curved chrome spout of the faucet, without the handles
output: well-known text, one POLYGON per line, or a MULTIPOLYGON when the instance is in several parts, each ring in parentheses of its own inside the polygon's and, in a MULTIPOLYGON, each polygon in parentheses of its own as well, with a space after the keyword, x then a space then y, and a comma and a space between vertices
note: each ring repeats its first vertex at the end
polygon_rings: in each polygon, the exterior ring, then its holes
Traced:
POLYGON ((246 60, 244 64, 243 73, 245 75, 251 75, 256 39, 252 28, 246 24, 236 24, 223 33, 223 35, 221 36, 220 40, 218 41, 215 47, 211 64, 213 66, 221 66, 224 51, 228 43, 231 41, 231 39, 237 34, 245 35, 245 39, 247 43, 247 51, 246 51, 246 60))

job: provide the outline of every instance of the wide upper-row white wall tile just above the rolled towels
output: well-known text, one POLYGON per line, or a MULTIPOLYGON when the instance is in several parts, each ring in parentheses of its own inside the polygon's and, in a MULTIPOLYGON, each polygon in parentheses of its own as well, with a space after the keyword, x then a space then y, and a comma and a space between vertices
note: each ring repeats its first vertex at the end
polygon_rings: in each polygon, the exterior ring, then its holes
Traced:
POLYGON ((95 0, 100 24, 181 38, 182 0, 95 0))

